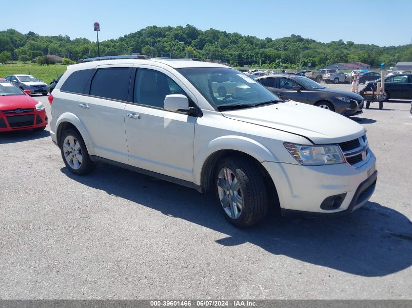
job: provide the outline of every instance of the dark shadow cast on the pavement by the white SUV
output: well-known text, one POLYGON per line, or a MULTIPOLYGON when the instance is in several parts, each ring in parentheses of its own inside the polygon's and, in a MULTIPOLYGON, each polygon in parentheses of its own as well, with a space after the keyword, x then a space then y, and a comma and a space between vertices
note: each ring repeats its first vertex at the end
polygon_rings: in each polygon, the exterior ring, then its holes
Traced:
POLYGON ((375 202, 344 217, 268 215, 259 225, 241 230, 226 221, 215 198, 194 189, 102 163, 88 176, 76 176, 65 167, 60 170, 74 181, 136 206, 227 235, 215 240, 222 246, 249 242, 271 254, 366 277, 389 275, 412 265, 411 221, 375 202))

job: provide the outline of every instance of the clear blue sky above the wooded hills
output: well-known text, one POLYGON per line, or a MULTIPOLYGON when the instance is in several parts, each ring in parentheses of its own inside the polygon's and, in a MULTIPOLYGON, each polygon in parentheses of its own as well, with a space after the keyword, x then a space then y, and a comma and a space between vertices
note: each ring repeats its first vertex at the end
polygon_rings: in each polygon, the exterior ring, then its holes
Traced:
POLYGON ((405 45, 412 38, 412 0, 1 2, 0 30, 13 28, 24 34, 33 31, 93 41, 95 21, 101 27, 99 40, 118 38, 151 25, 186 24, 259 38, 296 34, 321 42, 342 39, 379 46, 405 45))

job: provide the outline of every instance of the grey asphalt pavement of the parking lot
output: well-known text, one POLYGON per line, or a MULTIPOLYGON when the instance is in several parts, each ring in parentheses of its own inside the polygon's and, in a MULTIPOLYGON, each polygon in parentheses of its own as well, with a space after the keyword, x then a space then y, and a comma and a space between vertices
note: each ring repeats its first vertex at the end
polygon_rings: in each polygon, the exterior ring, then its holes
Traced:
POLYGON ((379 173, 363 208, 248 230, 193 189, 103 163, 69 173, 49 127, 1 133, 0 298, 412 299, 410 107, 353 117, 379 173))

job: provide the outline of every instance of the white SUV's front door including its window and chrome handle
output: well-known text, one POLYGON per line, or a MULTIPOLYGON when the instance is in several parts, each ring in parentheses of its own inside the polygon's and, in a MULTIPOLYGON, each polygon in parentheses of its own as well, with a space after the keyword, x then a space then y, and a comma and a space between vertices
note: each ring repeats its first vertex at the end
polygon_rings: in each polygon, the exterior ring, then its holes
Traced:
POLYGON ((166 71, 137 68, 133 103, 124 109, 129 163, 192 182, 197 118, 163 109, 166 95, 187 95, 175 78, 166 71))

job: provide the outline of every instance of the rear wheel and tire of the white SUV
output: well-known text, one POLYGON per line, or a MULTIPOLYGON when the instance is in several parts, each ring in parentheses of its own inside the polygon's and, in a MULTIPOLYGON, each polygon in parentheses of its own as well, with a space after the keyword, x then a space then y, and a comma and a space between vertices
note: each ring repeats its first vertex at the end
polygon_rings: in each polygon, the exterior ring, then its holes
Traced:
POLYGON ((63 132, 60 139, 60 152, 67 169, 76 175, 88 174, 95 168, 83 138, 76 130, 68 129, 63 132))

